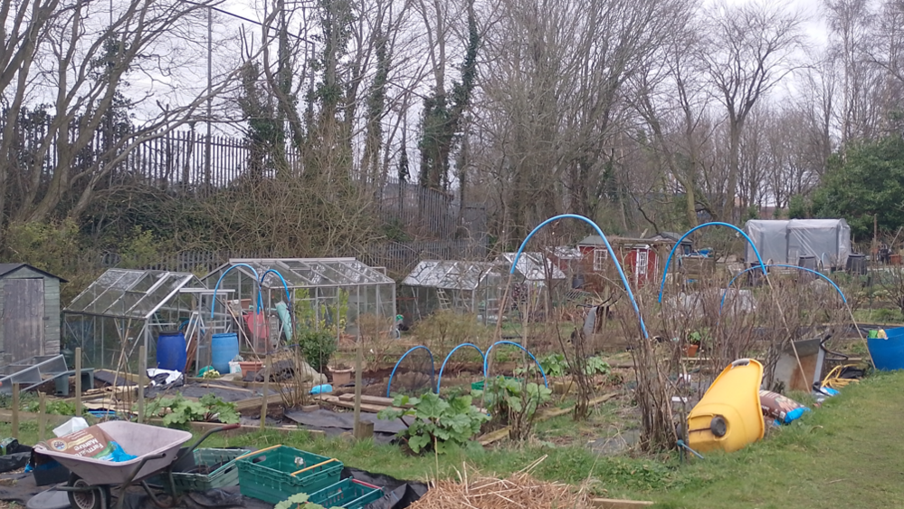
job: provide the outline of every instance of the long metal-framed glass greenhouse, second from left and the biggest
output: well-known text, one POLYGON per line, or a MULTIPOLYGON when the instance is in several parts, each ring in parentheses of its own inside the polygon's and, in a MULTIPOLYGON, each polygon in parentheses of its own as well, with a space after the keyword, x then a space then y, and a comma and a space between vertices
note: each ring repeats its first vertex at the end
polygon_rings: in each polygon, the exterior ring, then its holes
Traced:
POLYGON ((282 280, 273 272, 268 273, 275 271, 288 286, 299 327, 338 324, 337 334, 351 333, 357 328, 358 317, 369 315, 385 322, 388 333, 395 323, 395 281, 355 258, 235 258, 205 275, 202 281, 214 288, 220 276, 226 274, 220 287, 235 290, 229 299, 241 300, 243 309, 249 310, 256 307, 256 285, 249 266, 263 277, 261 311, 270 317, 276 316, 277 304, 286 301, 282 280))

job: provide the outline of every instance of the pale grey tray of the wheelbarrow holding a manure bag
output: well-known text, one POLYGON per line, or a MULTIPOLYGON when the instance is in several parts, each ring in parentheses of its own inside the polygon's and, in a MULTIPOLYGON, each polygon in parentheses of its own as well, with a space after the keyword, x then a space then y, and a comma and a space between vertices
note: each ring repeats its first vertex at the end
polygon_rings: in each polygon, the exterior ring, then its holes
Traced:
POLYGON ((137 457, 128 461, 112 462, 62 453, 43 444, 38 444, 34 450, 56 459, 90 485, 122 485, 128 481, 138 482, 147 479, 165 470, 176 461, 179 447, 192 437, 187 431, 134 422, 110 421, 101 422, 98 426, 111 440, 117 442, 122 450, 137 457), (135 472, 144 456, 155 455, 163 457, 147 460, 141 466, 141 470, 135 472))

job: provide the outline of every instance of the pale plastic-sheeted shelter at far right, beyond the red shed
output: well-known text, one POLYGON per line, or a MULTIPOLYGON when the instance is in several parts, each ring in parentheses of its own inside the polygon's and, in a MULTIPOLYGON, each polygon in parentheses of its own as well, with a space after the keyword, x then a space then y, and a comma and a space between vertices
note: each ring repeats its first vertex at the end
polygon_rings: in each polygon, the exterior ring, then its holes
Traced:
MULTIPOLYGON (((813 257, 825 268, 843 268, 851 254, 851 227, 844 219, 751 219, 744 231, 764 262, 796 265, 802 257, 813 257)), ((757 263, 750 245, 746 260, 757 263)))

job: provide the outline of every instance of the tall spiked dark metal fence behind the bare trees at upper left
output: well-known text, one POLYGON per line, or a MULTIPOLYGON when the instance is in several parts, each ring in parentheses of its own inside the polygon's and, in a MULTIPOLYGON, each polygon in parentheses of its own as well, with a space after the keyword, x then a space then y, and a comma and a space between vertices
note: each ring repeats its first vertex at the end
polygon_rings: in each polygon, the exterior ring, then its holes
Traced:
MULTIPOLYGON (((8 120, 0 120, 0 125, 5 121, 8 120)), ((13 171, 18 171, 20 175, 8 176, 7 181, 33 181, 35 171, 42 173, 43 181, 52 178, 58 164, 56 139, 50 139, 48 147, 43 146, 48 143, 51 122, 52 117, 41 115, 17 120, 14 132, 14 158, 17 161, 13 171), (41 154, 43 156, 39 156, 41 154)), ((76 128, 73 126, 73 129, 76 128)), ((79 154, 71 173, 77 175, 102 164, 100 158, 109 157, 110 147, 115 146, 115 141, 106 130, 95 131, 90 145, 79 154)), ((303 171, 303 161, 300 161, 297 151, 287 148, 286 158, 292 168, 303 171)), ((247 139, 229 136, 211 136, 208 139, 195 130, 172 131, 147 139, 132 149, 128 157, 109 172, 104 185, 115 188, 138 183, 176 194, 197 195, 229 187, 241 178, 273 178, 276 173, 273 167, 266 156, 252 154, 252 146, 247 139)), ((455 234, 464 209, 458 206, 451 194, 416 183, 400 182, 385 175, 376 179, 359 175, 352 178, 367 187, 368 194, 376 201, 374 209, 386 223, 416 236, 450 238, 455 234)), ((23 191, 13 186, 9 192, 23 191)), ((15 200, 9 203, 15 203, 15 200)))

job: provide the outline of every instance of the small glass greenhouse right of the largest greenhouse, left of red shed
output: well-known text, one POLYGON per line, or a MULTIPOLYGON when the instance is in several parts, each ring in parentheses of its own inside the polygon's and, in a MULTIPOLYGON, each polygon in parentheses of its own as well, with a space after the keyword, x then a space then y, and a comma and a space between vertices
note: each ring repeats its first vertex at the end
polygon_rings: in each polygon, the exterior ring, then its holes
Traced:
POLYGON ((437 310, 475 313, 495 322, 506 274, 501 264, 424 260, 402 282, 403 314, 421 320, 437 310))

